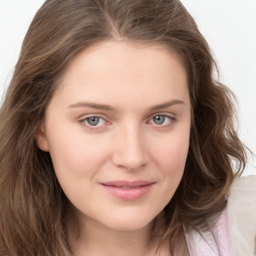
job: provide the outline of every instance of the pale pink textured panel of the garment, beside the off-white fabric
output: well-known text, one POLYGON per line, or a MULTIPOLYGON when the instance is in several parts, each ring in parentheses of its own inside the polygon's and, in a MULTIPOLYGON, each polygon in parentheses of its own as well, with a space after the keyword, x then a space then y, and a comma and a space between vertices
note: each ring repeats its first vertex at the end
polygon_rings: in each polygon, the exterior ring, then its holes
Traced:
POLYGON ((184 231, 190 256, 235 256, 228 205, 211 229, 184 231))

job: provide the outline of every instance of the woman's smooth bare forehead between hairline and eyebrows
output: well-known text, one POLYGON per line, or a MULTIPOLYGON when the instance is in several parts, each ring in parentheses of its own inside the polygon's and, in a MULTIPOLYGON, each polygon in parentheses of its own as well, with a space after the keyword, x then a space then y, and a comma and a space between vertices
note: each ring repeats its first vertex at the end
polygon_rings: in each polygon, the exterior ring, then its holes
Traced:
MULTIPOLYGON (((160 45, 104 42, 80 51, 61 79, 66 101, 130 103, 187 97, 187 78, 177 56, 160 45), (143 97, 143 98, 142 98, 143 97)), ((73 102, 70 102, 70 104, 73 102)))

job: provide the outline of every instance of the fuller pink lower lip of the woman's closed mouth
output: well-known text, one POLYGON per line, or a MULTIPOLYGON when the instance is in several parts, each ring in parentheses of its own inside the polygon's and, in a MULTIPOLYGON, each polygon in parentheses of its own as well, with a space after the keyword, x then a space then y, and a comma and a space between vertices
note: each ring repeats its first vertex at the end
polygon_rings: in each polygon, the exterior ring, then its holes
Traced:
POLYGON ((153 183, 134 188, 122 188, 101 184, 107 192, 122 200, 137 200, 144 196, 152 187, 153 183))

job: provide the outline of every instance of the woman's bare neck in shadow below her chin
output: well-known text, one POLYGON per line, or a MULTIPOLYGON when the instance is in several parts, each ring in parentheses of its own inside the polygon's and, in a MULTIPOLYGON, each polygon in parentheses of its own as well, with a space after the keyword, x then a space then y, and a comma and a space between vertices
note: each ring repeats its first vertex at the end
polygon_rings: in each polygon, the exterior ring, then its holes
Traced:
MULTIPOLYGON (((68 237, 75 256, 151 256, 156 254, 157 234, 152 236, 157 220, 137 230, 115 230, 92 219, 79 221, 79 235, 76 238, 77 224, 68 218, 68 237), (156 238, 155 238, 156 237, 156 238)), ((157 227, 158 229, 158 227, 157 227)), ((167 254, 165 254, 167 255, 167 254)))

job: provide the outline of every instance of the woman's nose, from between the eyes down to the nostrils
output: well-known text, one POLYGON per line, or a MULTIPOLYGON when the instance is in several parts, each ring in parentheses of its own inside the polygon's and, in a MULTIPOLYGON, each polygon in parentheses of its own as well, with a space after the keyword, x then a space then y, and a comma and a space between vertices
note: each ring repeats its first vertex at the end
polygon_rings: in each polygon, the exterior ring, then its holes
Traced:
POLYGON ((123 125, 115 135, 112 162, 115 166, 137 170, 146 165, 149 157, 146 139, 136 125, 123 125))

